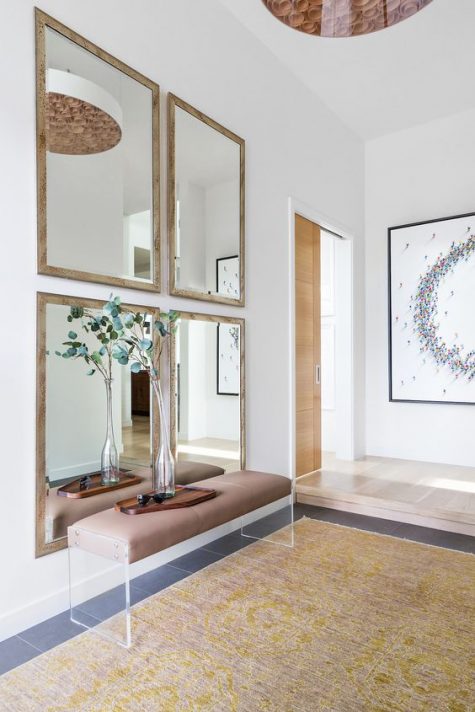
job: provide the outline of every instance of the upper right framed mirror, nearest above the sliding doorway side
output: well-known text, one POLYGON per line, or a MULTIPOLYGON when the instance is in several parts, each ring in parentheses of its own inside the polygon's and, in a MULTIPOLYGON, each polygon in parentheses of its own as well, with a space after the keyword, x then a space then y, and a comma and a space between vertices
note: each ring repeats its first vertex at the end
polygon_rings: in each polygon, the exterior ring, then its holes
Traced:
POLYGON ((170 293, 244 306, 243 139, 168 97, 170 293))

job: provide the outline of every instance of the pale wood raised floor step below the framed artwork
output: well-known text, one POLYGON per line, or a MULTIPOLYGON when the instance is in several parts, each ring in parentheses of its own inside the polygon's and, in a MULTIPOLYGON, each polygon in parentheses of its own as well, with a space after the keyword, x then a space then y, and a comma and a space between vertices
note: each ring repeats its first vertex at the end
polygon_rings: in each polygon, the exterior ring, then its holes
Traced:
POLYGON ((297 501, 475 535, 472 467, 326 452, 321 470, 297 479, 297 501))

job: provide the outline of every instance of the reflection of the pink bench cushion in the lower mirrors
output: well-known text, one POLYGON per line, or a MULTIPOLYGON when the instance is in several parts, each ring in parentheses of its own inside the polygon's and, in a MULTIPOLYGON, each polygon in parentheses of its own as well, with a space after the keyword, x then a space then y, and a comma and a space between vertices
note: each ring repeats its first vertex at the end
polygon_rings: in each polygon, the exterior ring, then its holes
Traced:
MULTIPOLYGON (((134 472, 143 477, 144 482, 121 490, 104 492, 94 497, 84 497, 83 499, 58 497, 58 488, 52 487, 46 499, 46 516, 51 518, 53 539, 66 536, 67 528, 77 522, 78 519, 83 519, 108 507, 113 507, 118 499, 135 497, 140 492, 150 489, 150 468, 134 467, 134 472)), ((209 465, 206 462, 179 460, 175 465, 177 485, 189 485, 192 482, 206 480, 222 474, 224 474, 222 467, 209 465)))

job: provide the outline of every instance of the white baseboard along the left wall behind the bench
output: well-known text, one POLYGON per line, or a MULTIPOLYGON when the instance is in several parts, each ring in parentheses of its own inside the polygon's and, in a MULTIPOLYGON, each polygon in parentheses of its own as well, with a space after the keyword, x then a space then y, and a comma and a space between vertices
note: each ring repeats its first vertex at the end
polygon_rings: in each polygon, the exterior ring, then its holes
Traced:
MULTIPOLYGON (((246 515, 246 524, 266 517, 273 512, 282 509, 288 504, 288 498, 283 500, 278 500, 272 504, 268 504, 261 509, 246 515)), ((157 566, 162 566, 178 556, 183 556, 188 554, 190 551, 197 549, 201 546, 209 544, 215 539, 219 539, 226 534, 230 534, 241 527, 241 518, 233 519, 231 522, 222 524, 215 529, 210 529, 203 534, 188 539, 181 544, 176 544, 165 551, 161 551, 158 554, 149 556, 147 559, 138 561, 131 565, 131 578, 140 576, 140 574, 147 573, 157 568, 157 566)), ((0 641, 10 638, 13 635, 21 633, 21 631, 30 628, 33 625, 42 623, 43 621, 51 618, 52 616, 58 615, 69 608, 69 590, 68 590, 68 561, 67 561, 67 551, 58 552, 56 556, 64 555, 64 586, 55 591, 55 593, 50 596, 33 601, 27 606, 22 608, 14 609, 0 616, 0 641)), ((115 567, 114 567, 115 569, 115 567)), ((108 567, 105 571, 100 574, 95 574, 84 581, 80 581, 77 588, 87 587, 88 593, 92 596, 98 596, 104 591, 109 590, 114 582, 114 569, 108 567)))

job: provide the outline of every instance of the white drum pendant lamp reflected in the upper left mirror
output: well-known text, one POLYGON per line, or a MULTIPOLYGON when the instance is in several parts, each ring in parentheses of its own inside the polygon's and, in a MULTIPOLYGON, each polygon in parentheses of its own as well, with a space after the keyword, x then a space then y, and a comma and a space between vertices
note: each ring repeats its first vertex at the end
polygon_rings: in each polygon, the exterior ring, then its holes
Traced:
POLYGON ((97 84, 48 69, 46 148, 71 156, 109 151, 122 138, 122 110, 97 84))

